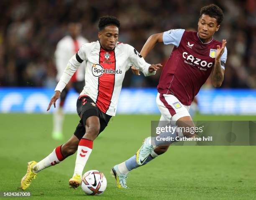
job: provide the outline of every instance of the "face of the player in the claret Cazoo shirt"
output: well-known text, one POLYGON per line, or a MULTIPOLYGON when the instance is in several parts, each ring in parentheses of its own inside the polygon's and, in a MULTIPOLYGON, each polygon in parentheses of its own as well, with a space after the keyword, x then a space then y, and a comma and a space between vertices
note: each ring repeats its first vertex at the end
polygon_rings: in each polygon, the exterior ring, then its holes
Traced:
POLYGON ((220 25, 218 25, 216 18, 211 18, 209 15, 203 14, 198 21, 197 32, 203 41, 208 42, 219 28, 220 25))

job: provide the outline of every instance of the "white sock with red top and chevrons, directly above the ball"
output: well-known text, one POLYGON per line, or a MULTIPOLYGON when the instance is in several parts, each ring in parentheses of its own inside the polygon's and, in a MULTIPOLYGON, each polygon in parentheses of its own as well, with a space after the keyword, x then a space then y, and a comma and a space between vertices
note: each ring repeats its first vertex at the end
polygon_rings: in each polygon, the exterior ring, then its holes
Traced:
POLYGON ((84 166, 92 152, 92 145, 93 145, 92 140, 84 139, 84 138, 80 140, 78 144, 78 149, 77 149, 77 159, 76 159, 73 176, 78 174, 82 177, 84 166))

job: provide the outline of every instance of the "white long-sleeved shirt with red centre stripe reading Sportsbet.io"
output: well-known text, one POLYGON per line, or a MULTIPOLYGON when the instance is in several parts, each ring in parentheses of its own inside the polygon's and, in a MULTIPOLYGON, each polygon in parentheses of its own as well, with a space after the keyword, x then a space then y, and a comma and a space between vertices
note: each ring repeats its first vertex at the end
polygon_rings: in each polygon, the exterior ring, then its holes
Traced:
POLYGON ((125 72, 131 65, 145 76, 156 73, 148 72, 150 64, 132 46, 118 42, 113 51, 105 51, 96 41, 83 44, 69 60, 55 91, 64 89, 83 61, 86 63, 85 86, 80 95, 90 96, 102 112, 112 116, 116 113, 125 72))

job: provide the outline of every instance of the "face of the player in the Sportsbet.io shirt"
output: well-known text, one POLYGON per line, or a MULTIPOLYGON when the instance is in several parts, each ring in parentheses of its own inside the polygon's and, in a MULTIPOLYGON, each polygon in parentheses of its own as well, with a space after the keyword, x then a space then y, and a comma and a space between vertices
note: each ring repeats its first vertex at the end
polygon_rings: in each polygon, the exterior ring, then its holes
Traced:
POLYGON ((98 33, 102 48, 107 51, 113 51, 118 41, 119 30, 115 25, 108 25, 98 33))

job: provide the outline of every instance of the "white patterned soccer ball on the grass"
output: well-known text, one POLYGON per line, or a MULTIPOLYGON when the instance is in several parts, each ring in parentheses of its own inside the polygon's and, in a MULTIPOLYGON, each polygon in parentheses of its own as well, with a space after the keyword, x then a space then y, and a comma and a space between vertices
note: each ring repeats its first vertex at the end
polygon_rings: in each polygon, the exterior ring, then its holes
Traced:
POLYGON ((107 187, 107 179, 102 172, 90 170, 82 177, 82 190, 87 195, 101 195, 107 187))

